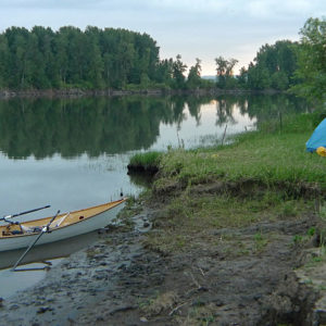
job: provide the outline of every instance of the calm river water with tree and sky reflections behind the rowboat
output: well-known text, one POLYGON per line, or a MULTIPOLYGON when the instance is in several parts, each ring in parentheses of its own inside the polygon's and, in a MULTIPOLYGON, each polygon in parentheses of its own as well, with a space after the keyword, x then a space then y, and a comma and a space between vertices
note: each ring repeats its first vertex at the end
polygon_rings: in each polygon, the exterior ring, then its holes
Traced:
POLYGON ((117 199, 121 190, 137 195, 141 185, 126 168, 131 154, 221 142, 225 130, 306 110, 275 95, 2 100, 0 216, 46 204, 39 216, 52 215, 117 199))

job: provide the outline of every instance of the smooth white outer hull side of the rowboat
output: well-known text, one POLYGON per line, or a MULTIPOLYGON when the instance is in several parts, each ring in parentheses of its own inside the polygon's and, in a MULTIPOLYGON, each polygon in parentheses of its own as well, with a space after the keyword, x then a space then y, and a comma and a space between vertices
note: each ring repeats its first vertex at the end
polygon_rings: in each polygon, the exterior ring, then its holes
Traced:
MULTIPOLYGON (((86 218, 66 227, 54 228, 50 233, 45 233, 35 246, 55 242, 102 228, 114 220, 123 206, 124 202, 95 215, 91 218, 86 218)), ((0 251, 27 248, 38 237, 38 235, 39 234, 30 234, 17 237, 0 238, 0 251)))

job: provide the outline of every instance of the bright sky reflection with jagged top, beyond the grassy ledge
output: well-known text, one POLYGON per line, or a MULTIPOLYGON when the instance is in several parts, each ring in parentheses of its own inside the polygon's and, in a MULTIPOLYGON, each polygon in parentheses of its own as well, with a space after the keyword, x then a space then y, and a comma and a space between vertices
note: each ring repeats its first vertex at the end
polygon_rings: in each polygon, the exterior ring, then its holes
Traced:
POLYGON ((178 147, 179 142, 184 142, 186 148, 192 148, 201 145, 211 145, 217 139, 222 139, 227 125, 226 136, 242 133, 247 128, 251 128, 255 123, 255 118, 251 120, 246 113, 242 115, 238 106, 233 108, 233 117, 228 117, 226 123, 216 124, 216 102, 202 104, 200 110, 200 122, 191 116, 188 109, 184 110, 185 120, 179 128, 177 124, 160 125, 160 137, 152 145, 150 150, 166 150, 168 146, 178 147), (212 137, 208 137, 212 136, 212 137))

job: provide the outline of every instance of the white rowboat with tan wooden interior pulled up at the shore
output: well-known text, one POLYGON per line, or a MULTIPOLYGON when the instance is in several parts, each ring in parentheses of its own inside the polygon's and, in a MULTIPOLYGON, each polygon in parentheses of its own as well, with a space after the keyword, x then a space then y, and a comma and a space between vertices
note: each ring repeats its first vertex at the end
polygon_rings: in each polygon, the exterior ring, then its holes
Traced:
MULTIPOLYGON (((114 220, 125 202, 123 198, 85 210, 1 225, 0 251, 27 248, 30 243, 45 244, 100 229, 114 220)), ((8 222, 7 218, 2 220, 8 222)))

